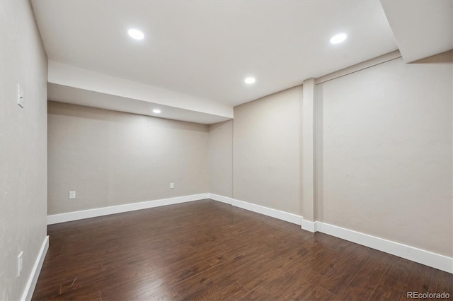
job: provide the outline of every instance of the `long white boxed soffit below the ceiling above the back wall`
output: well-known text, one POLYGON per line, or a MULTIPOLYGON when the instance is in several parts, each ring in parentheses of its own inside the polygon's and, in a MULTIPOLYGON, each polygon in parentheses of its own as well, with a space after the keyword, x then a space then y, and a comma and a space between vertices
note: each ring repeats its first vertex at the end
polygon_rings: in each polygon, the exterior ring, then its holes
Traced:
POLYGON ((49 61, 49 100, 186 122, 210 124, 233 117, 233 107, 190 95, 49 61), (79 96, 83 96, 83 98, 79 96), (215 120, 214 122, 211 122, 215 120))

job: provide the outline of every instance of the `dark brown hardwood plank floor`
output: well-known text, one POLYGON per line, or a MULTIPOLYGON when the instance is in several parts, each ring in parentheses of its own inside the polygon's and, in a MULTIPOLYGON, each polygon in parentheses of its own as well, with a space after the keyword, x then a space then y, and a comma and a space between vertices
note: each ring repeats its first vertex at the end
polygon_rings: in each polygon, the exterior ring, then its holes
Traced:
POLYGON ((33 300, 408 300, 452 274, 195 201, 50 225, 33 300))

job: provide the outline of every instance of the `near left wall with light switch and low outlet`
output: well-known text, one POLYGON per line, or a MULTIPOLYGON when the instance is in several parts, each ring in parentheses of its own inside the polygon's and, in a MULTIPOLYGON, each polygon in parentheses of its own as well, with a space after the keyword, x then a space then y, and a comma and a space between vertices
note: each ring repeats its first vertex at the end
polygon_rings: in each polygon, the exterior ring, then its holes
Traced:
POLYGON ((0 1, 0 66, 0 300, 20 300, 47 233, 47 55, 29 1, 0 1))

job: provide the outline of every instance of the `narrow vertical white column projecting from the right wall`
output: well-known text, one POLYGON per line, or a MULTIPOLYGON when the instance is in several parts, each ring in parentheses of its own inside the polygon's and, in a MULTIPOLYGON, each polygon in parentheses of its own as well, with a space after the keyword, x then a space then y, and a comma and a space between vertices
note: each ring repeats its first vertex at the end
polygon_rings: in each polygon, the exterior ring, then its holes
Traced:
MULTIPOLYGON (((315 78, 309 78, 304 81, 302 86, 302 216, 304 217, 304 221, 307 222, 316 221, 314 158, 315 84, 315 78)), ((313 228, 313 232, 316 232, 316 229, 313 228)))

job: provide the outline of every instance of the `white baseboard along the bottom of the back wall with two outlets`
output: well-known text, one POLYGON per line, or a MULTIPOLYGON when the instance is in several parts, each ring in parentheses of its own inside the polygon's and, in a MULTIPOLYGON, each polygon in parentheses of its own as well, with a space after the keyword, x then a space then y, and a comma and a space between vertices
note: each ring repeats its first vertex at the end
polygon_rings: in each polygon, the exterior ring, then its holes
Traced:
POLYGON ((47 216, 47 225, 65 223, 71 220, 82 220, 84 218, 96 218, 97 216, 108 216, 110 214, 122 213, 128 211, 136 211, 140 209, 154 208, 160 206, 173 205, 175 203, 185 203, 188 201, 198 201, 207 199, 205 194, 193 194, 190 196, 176 196, 169 199, 160 199, 154 201, 142 201, 138 203, 125 203, 123 205, 109 206, 102 208, 94 208, 82 211, 74 211, 68 213, 54 214, 47 216))

